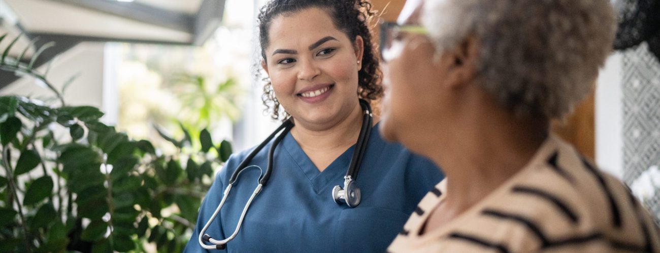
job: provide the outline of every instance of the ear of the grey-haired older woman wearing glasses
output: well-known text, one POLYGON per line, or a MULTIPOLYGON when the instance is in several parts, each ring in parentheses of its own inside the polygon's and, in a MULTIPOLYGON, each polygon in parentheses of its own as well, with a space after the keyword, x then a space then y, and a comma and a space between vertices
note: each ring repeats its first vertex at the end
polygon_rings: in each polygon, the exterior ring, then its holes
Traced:
POLYGON ((440 58, 440 68, 446 72, 446 83, 451 87, 463 87, 477 78, 479 41, 470 36, 453 50, 447 50, 440 58))

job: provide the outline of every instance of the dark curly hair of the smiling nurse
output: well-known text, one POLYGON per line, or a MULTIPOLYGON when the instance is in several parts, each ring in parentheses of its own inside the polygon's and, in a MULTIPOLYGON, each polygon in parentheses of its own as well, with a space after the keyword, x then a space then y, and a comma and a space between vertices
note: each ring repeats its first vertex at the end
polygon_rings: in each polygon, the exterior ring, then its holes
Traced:
MULTIPOLYGON (((261 57, 265 61, 265 48, 269 45, 269 29, 273 20, 282 14, 290 14, 309 8, 319 8, 329 11, 335 28, 343 31, 351 43, 355 42, 356 36, 360 35, 364 40, 364 55, 362 56, 362 68, 358 72, 358 97, 372 101, 383 95, 380 85, 381 72, 377 49, 372 39, 372 31, 369 28, 370 21, 375 11, 368 0, 273 0, 261 8, 257 23, 259 25, 259 43, 261 45, 261 57)), ((286 118, 288 114, 280 109, 280 103, 275 97, 273 85, 268 78, 263 86, 261 100, 266 106, 265 111, 271 112, 271 118, 286 118)))

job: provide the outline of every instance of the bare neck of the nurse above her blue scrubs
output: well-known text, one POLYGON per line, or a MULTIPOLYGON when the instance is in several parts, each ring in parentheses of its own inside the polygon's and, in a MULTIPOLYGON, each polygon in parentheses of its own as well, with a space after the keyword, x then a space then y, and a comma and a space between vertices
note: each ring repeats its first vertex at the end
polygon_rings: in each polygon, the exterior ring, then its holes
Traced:
POLYGON ((302 122, 295 122, 291 135, 298 145, 322 172, 339 155, 354 145, 362 126, 362 108, 356 103, 346 118, 332 126, 307 127, 302 122))

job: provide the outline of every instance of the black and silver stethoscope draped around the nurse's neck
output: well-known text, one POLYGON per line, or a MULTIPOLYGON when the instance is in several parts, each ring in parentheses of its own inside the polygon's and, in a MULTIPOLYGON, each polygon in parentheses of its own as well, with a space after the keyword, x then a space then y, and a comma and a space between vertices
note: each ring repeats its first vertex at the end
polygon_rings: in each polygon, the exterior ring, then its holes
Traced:
MULTIPOLYGON (((350 159, 350 165, 348 166, 348 171, 346 172, 346 175, 344 176, 344 187, 342 188, 341 186, 337 185, 333 188, 332 191, 332 198, 335 200, 335 203, 341 204, 342 202, 346 203, 348 207, 355 207, 360 204, 361 200, 361 195, 360 195, 360 188, 358 185, 355 183, 355 179, 357 178, 358 171, 360 170, 360 164, 362 163, 362 157, 364 156, 364 151, 366 150, 367 143, 369 141, 369 136, 371 135, 371 129, 372 129, 372 110, 371 106, 367 101, 364 101, 360 99, 360 106, 362 107, 363 111, 363 116, 362 116, 362 127, 360 127, 360 135, 358 135, 358 142, 355 145, 355 150, 353 151, 353 156, 350 159)), ((271 178, 271 172, 273 172, 273 158, 275 156, 275 147, 284 139, 284 136, 291 130, 291 128, 294 126, 294 123, 292 122, 291 118, 288 118, 282 123, 281 126, 277 127, 271 135, 269 135, 259 146, 257 146, 256 149, 254 149, 252 152, 248 154, 248 157, 246 157, 243 162, 241 162, 238 165, 238 168, 236 168, 236 171, 232 174, 232 177, 229 179, 229 184, 227 187, 224 189, 224 193, 222 194, 222 200, 220 200, 220 204, 218 204, 218 208, 215 209, 215 212, 213 212, 213 216, 207 221, 206 225, 204 225, 203 229, 199 231, 199 244, 202 246, 202 248, 205 248, 207 250, 224 250, 226 248, 227 242, 230 242, 236 237, 238 234, 238 229, 241 228, 241 224, 243 223, 243 218, 246 216, 246 212, 248 212, 248 208, 250 204, 252 203, 252 200, 254 200, 254 197, 261 192, 261 189, 263 188, 264 185, 268 182, 268 180, 271 178), (280 133, 282 132, 282 133, 280 133), (280 133, 277 135, 277 133, 280 133), (275 137, 277 135, 277 137, 275 137), (241 213, 240 219, 238 219, 238 224, 236 225, 236 229, 234 229, 234 233, 230 237, 227 237, 224 240, 215 240, 208 234, 205 234, 207 229, 209 228, 209 225, 211 225, 211 222, 213 222, 213 219, 218 215, 220 212, 220 209, 222 208, 222 205, 224 205, 224 202, 227 200, 227 196, 229 195, 230 190, 232 189, 232 185, 236 183, 236 179, 238 179, 238 175, 246 169, 251 166, 248 166, 249 162, 251 162, 252 158, 257 155, 257 153, 263 149, 273 138, 275 138, 275 141, 273 141, 273 145, 271 145, 271 148, 268 150, 268 164, 266 166, 266 172, 259 177, 259 184, 257 187, 254 189, 252 192, 252 195, 248 199, 248 202, 246 203, 246 206, 243 208, 243 212, 241 213), (204 242, 211 242, 213 245, 208 245, 205 244, 204 242)))

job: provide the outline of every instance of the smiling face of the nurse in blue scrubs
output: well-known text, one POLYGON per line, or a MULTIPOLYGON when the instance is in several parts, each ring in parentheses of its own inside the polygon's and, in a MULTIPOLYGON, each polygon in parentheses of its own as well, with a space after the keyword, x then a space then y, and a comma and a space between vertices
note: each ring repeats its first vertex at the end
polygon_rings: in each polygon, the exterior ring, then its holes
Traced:
POLYGON ((358 106, 363 41, 351 43, 327 11, 309 8, 273 20, 263 68, 296 124, 333 126, 358 106))

